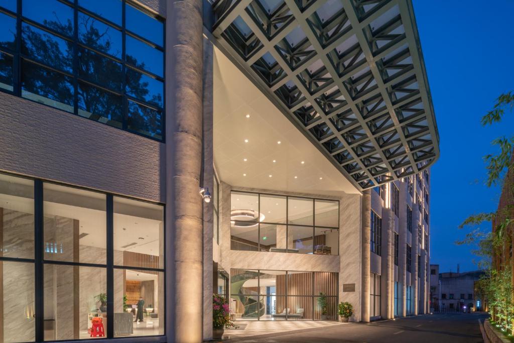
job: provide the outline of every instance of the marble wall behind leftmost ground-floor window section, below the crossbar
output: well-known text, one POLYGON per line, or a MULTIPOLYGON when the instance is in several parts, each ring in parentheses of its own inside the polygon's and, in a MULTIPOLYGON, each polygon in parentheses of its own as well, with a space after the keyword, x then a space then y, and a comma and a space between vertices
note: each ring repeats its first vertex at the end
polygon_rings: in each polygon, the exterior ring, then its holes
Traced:
MULTIPOLYGON (((34 341, 34 264, 0 262, 3 273, 3 336, 5 343, 34 341)), ((2 299, 0 299, 2 300, 2 299)), ((0 335, 0 341, 2 336, 0 335)))

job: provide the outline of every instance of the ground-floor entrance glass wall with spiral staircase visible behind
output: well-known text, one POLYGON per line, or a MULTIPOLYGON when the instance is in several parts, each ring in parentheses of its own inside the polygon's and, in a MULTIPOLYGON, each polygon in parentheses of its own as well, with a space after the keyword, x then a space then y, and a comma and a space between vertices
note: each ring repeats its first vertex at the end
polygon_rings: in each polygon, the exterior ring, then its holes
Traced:
POLYGON ((232 269, 236 320, 337 320, 338 273, 232 269))

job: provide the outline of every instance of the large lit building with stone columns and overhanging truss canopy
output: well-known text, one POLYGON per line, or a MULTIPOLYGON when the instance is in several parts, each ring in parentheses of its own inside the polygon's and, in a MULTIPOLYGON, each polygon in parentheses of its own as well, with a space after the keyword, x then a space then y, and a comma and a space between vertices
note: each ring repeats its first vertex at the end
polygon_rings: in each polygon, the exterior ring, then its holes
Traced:
POLYGON ((0 130, 1 343, 429 311, 410 1, 7 0, 0 130))

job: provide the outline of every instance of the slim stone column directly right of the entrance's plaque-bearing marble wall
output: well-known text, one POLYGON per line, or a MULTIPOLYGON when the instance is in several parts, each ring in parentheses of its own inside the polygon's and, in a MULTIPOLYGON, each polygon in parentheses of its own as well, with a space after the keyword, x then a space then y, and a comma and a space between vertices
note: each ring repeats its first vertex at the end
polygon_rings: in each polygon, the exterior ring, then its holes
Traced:
POLYGON ((370 321, 370 234, 371 191, 362 193, 362 316, 361 321, 370 321))

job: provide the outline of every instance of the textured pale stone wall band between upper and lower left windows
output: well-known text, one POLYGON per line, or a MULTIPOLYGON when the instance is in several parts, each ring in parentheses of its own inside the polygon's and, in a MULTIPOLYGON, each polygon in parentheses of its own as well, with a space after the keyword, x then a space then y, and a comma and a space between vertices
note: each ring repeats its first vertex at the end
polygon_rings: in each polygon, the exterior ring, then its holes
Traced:
POLYGON ((0 93, 0 170, 164 202, 164 144, 0 93))

